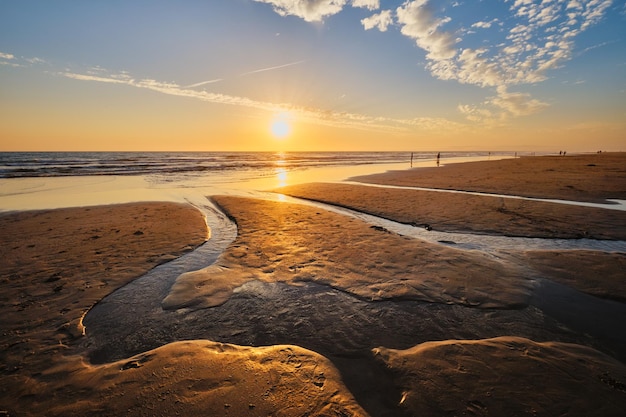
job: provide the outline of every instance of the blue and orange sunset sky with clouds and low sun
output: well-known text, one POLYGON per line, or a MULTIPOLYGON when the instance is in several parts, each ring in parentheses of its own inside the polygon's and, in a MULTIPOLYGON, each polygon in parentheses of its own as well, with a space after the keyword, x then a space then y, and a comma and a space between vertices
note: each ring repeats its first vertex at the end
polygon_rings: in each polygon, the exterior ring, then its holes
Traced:
POLYGON ((0 151, 626 151, 623 0, 0 0, 0 151))

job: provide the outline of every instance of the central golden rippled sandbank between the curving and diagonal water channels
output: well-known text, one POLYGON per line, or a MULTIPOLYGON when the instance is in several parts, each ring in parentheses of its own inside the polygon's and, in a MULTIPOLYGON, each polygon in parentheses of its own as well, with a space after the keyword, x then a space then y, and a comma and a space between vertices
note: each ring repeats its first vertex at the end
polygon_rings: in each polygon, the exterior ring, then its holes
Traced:
POLYGON ((368 301, 516 308, 530 298, 529 279, 480 253, 401 237, 315 207, 214 200, 237 223, 237 240, 215 264, 179 277, 164 308, 214 307, 254 280, 314 282, 368 301))

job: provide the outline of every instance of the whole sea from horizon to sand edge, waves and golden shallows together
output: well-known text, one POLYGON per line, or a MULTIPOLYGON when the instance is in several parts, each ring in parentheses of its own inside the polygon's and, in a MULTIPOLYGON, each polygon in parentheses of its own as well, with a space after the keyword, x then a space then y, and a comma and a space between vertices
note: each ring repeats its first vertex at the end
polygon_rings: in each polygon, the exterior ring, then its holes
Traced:
MULTIPOLYGON (((411 166, 434 152, 3 152, 0 211, 135 201, 191 202, 411 166)), ((449 152, 441 163, 509 157, 449 152)))

